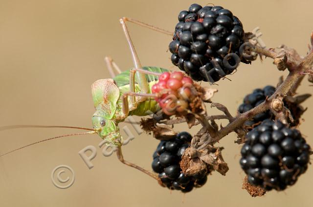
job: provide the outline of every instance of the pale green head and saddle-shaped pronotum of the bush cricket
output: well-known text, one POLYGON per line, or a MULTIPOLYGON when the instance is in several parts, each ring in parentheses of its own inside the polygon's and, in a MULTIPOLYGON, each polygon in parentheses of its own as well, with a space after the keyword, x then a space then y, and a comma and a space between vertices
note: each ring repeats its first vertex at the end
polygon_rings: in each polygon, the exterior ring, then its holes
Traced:
POLYGON ((119 89, 113 79, 100 79, 91 85, 95 113, 92 116, 93 129, 102 139, 112 146, 122 144, 119 128, 115 120, 115 111, 119 89))

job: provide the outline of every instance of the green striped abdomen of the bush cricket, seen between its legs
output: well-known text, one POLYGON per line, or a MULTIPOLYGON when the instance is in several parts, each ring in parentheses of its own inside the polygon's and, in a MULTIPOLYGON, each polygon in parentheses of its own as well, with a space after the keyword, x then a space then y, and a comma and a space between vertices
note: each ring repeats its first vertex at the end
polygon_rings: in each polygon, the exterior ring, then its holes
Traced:
MULTIPOLYGON (((155 73, 163 73, 163 72, 168 71, 167 69, 158 68, 158 67, 143 67, 142 69, 147 70, 147 71, 151 71, 151 72, 155 72, 155 73)), ((129 84, 130 76, 129 75, 130 75, 130 71, 128 70, 128 71, 124 71, 124 72, 120 73, 119 75, 116 75, 113 78, 113 80, 116 82, 116 85, 119 89, 120 97, 124 93, 130 91, 130 84, 129 84)), ((157 75, 148 75, 148 74, 146 74, 145 76, 146 76, 148 86, 149 86, 149 92, 148 93, 151 94, 152 93, 151 88, 158 81, 158 76, 157 75)), ((139 85, 137 83, 135 83, 135 92, 137 92, 137 93, 141 92, 139 85)), ((122 99, 121 98, 118 99, 117 106, 122 106, 122 99)), ((150 113, 156 113, 159 109, 160 109, 160 107, 158 106, 157 102, 154 99, 147 98, 146 101, 138 103, 137 108, 133 111, 130 111, 129 115, 145 116, 145 115, 148 115, 150 113)))

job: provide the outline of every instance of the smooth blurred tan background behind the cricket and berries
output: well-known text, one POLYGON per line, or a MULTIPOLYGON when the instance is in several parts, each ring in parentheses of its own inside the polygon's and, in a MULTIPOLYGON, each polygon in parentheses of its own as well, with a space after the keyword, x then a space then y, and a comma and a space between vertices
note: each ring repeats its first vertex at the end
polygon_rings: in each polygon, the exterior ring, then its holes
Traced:
MULTIPOLYGON (((122 70, 132 67, 130 52, 118 19, 126 16, 172 31, 180 10, 192 0, 0 0, 0 126, 12 124, 72 125, 91 127, 94 111, 90 85, 109 78, 103 61, 110 55, 122 70)), ((268 47, 282 43, 301 55, 307 52, 312 1, 302 0, 198 0, 214 3, 238 16, 245 31, 259 26, 268 47)), ((172 70, 167 51, 170 37, 129 25, 143 65, 172 70)), ((231 113, 245 94, 267 84, 275 85, 280 75, 270 59, 252 65, 241 64, 232 81, 219 81, 214 101, 225 104, 231 113)), ((202 83, 207 84, 207 83, 202 83)), ((312 90, 305 79, 299 94, 312 90)), ((301 132, 313 146, 313 99, 303 116, 301 132), (312 127, 311 127, 312 130, 312 127)), ((215 110, 208 110, 217 114, 215 110)), ((140 120, 139 117, 135 117, 140 120)), ((124 126, 123 124, 122 126, 124 126)), ((130 125, 129 125, 130 126, 130 125)), ((132 129, 132 132, 136 132, 132 129)), ((186 125, 176 128, 186 129, 186 125)), ((78 130, 19 129, 0 132, 0 153, 31 142, 78 130)), ((197 132, 197 128, 191 131, 197 132)), ((104 157, 97 147, 97 135, 84 135, 48 141, 0 158, 1 207, 292 207, 312 206, 313 169, 284 192, 271 191, 251 198, 241 189, 244 172, 238 164, 240 146, 235 134, 225 137, 224 159, 230 170, 224 177, 213 172, 207 184, 183 195, 158 186, 141 172, 126 167, 115 155, 104 157), (97 148, 88 169, 78 151, 88 145, 97 148), (50 174, 58 165, 68 165, 76 175, 68 189, 52 185, 50 174)), ((124 148, 125 158, 151 169, 158 141, 141 134, 124 148)))

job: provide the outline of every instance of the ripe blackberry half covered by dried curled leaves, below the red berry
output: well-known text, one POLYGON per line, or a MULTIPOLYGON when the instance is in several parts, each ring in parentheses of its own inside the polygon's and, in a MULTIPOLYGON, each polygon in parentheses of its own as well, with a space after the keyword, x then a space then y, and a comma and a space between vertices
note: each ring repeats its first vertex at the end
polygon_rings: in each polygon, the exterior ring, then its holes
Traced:
POLYGON ((185 176, 179 167, 181 156, 190 146, 191 139, 188 132, 180 132, 174 139, 160 141, 153 154, 152 169, 159 173, 161 182, 169 189, 190 192, 194 187, 199 188, 207 181, 209 172, 185 176))

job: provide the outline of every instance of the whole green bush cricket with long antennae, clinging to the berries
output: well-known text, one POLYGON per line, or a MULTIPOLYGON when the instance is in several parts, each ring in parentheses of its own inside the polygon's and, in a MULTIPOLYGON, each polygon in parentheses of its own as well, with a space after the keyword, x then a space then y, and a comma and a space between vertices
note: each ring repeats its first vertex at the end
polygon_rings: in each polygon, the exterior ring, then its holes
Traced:
POLYGON ((133 41, 130 37, 126 25, 127 21, 164 33, 166 35, 173 36, 171 32, 134 19, 120 19, 123 32, 126 36, 128 45, 131 50, 134 68, 125 72, 121 72, 121 70, 118 68, 118 66, 111 57, 105 57, 106 65, 112 78, 99 79, 91 85, 92 99, 96 110, 95 113, 92 115, 93 129, 68 126, 41 125, 15 125, 1 127, 0 131, 15 128, 72 128, 88 130, 89 132, 65 134, 57 137, 48 138, 23 146, 13 151, 6 152, 4 154, 1 154, 0 156, 4 156, 11 152, 21 150, 25 147, 29 147, 31 145, 52 139, 73 135, 97 133, 102 139, 107 141, 107 145, 117 148, 117 157, 122 163, 135 169, 139 169, 140 171, 158 180, 156 174, 124 160, 121 151, 123 139, 120 135, 118 124, 120 122, 123 122, 128 116, 145 116, 151 113, 156 113, 160 110, 160 107, 158 106, 156 100, 153 99, 153 97, 156 97, 156 94, 152 94, 151 88, 158 81, 158 76, 161 75, 161 73, 163 72, 167 72, 168 70, 158 67, 141 66, 140 60, 137 56, 133 41), (118 75, 115 76, 113 70, 116 70, 118 75))

